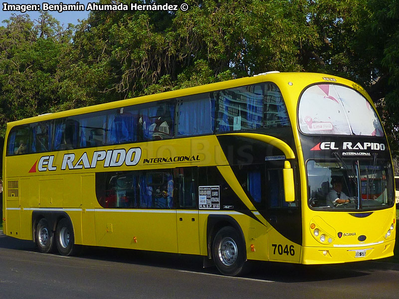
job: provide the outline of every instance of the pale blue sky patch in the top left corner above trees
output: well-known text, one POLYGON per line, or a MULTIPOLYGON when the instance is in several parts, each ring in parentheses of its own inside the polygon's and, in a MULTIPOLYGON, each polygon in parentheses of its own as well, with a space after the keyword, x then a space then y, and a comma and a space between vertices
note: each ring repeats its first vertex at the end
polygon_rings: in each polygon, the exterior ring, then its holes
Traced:
MULTIPOLYGON (((22 14, 22 12, 20 11, 4 11, 4 4, 3 3, 8 3, 8 4, 40 4, 40 7, 43 7, 43 2, 46 3, 50 3, 50 4, 59 4, 60 2, 64 3, 64 4, 75 4, 77 2, 77 0, 1 0, 0 4, 1 4, 1 10, 0 10, 0 26, 4 25, 3 23, 1 23, 4 19, 8 19, 12 13, 16 13, 16 14, 22 14)), ((79 0, 78 1, 80 4, 84 4, 86 6, 86 4, 88 2, 96 2, 96 0, 79 0)), ((72 24, 77 24, 78 23, 78 19, 82 20, 82 19, 86 19, 87 16, 89 15, 90 11, 62 11, 62 12, 58 12, 58 11, 48 11, 50 14, 52 14, 59 22, 60 24, 64 24, 65 26, 68 23, 72 23, 72 24)), ((38 11, 26 11, 24 13, 29 14, 30 19, 37 19, 39 16, 39 12, 38 11)))

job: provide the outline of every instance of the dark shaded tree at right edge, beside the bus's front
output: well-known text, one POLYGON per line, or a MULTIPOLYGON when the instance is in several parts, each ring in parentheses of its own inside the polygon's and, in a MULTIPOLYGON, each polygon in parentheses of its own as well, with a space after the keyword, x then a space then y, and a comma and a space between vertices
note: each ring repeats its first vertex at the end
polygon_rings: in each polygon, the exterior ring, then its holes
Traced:
POLYGON ((353 43, 357 72, 380 115, 391 151, 399 157, 399 2, 369 0, 361 30, 353 43))

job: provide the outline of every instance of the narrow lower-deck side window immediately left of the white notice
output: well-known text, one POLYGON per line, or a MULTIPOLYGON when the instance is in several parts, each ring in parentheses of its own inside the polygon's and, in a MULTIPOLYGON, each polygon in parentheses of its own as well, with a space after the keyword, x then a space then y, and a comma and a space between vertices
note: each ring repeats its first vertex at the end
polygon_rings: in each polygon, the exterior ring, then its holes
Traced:
POLYGON ((180 167, 174 170, 174 174, 179 207, 197 207, 198 168, 180 167))

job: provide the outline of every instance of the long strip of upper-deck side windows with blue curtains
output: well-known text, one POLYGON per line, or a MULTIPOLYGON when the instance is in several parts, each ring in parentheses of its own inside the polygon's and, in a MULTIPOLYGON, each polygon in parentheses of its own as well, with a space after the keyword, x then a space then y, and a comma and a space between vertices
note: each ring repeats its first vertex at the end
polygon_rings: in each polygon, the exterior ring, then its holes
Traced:
POLYGON ((290 126, 279 88, 267 82, 15 126, 7 138, 6 154, 227 132, 264 134, 290 126))

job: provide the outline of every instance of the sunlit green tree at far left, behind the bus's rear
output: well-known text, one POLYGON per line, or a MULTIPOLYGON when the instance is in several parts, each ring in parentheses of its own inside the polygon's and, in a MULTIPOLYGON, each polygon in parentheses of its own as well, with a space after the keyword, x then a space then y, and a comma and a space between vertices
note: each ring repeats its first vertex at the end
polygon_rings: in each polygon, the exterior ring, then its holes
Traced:
POLYGON ((48 13, 36 23, 26 14, 5 23, 0 27, 0 136, 7 122, 49 112, 57 103, 59 57, 71 37, 48 13))

